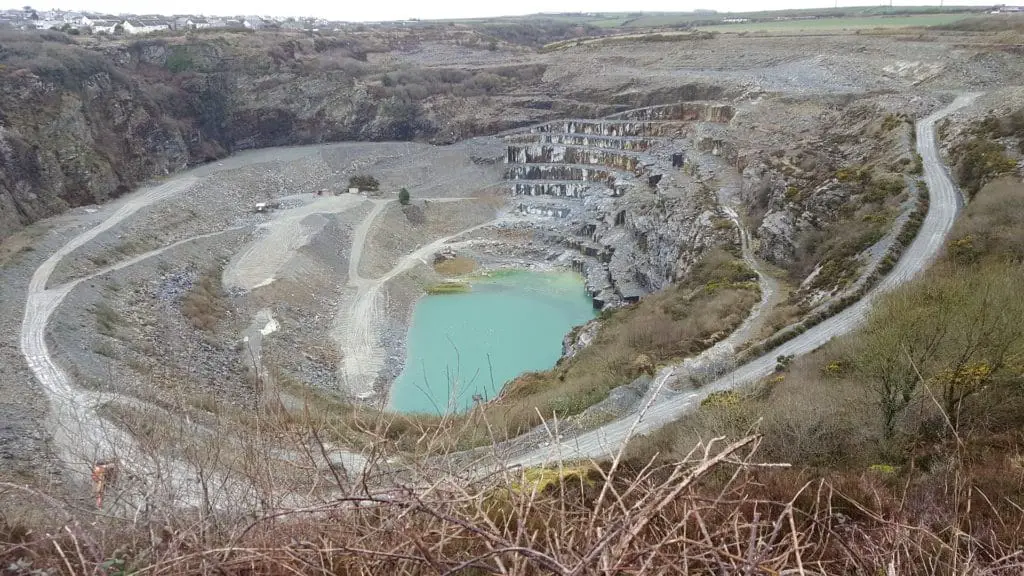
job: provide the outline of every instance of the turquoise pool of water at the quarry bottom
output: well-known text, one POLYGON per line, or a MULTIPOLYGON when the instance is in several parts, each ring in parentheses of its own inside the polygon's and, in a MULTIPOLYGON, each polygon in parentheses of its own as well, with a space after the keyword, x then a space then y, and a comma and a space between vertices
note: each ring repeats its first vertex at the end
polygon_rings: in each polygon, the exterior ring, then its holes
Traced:
POLYGON ((565 334, 595 314, 570 272, 502 271, 472 286, 417 302, 391 410, 462 412, 474 395, 493 399, 519 374, 553 367, 565 334))

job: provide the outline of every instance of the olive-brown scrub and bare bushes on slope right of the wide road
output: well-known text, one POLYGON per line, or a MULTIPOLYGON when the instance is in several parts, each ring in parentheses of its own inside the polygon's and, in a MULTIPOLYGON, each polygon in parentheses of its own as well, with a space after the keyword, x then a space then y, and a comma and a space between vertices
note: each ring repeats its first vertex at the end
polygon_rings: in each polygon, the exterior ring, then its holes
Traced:
MULTIPOLYGON (((968 573, 1011 559, 1006 569, 1020 570, 1021 559, 1000 554, 1024 544, 1022 227, 1024 187, 990 182, 942 259, 883 298, 864 328, 755 386, 710 396, 635 440, 631 461, 672 461, 701 439, 760 434, 761 457, 793 464, 757 475, 770 498, 823 483, 849 499, 843 513, 856 523, 912 526, 925 540, 903 548, 920 554, 904 572, 968 573)), ((912 531, 873 545, 896 558, 912 531)))

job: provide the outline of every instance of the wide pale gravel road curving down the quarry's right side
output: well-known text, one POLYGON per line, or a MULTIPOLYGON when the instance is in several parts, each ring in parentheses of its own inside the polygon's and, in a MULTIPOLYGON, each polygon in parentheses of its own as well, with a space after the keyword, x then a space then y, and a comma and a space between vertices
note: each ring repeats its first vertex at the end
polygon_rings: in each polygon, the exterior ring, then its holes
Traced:
MULTIPOLYGON (((871 302, 880 294, 907 282, 925 270, 938 255, 963 204, 963 197, 949 178, 939 156, 935 139, 935 124, 949 114, 970 106, 977 96, 978 94, 959 96, 948 107, 918 122, 918 152, 924 160, 925 181, 928 184, 930 197, 928 216, 925 218, 925 223, 918 233, 918 237, 904 252, 896 266, 878 287, 863 298, 807 332, 697 392, 671 397, 647 407, 646 410, 641 411, 639 416, 621 418, 574 438, 560 440, 543 449, 509 458, 506 464, 532 466, 559 459, 572 460, 614 456, 631 437, 650 433, 677 420, 682 414, 697 407, 708 395, 735 388, 768 376, 774 371, 775 360, 779 356, 807 354, 836 336, 851 332, 867 317, 871 302)), ((672 370, 663 371, 652 386, 664 385, 671 375, 672 370)), ((656 397, 657 395, 654 396, 654 398, 656 397)))

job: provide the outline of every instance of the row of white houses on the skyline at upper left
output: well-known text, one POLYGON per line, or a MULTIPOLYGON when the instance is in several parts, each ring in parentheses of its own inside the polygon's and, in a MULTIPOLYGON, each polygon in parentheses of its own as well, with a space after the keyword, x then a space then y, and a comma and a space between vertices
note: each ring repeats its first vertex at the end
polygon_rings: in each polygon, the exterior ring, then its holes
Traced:
POLYGON ((85 34, 152 34, 165 31, 205 29, 309 30, 336 28, 323 18, 275 18, 268 16, 207 17, 196 15, 111 15, 61 10, 34 10, 29 6, 0 10, 0 25, 22 30, 63 30, 85 34))

